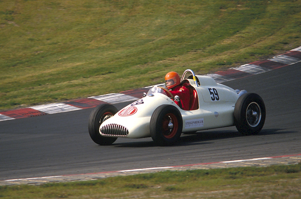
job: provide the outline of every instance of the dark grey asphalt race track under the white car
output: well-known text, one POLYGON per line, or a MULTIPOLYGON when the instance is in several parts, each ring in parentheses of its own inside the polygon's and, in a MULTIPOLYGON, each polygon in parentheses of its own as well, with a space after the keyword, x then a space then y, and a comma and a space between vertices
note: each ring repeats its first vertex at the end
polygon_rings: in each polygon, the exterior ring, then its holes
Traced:
POLYGON ((0 180, 301 154, 300 66, 223 83, 264 100, 266 121, 256 136, 227 127, 182 135, 171 147, 157 147, 151 138, 118 138, 111 146, 99 146, 87 129, 92 109, 2 121, 0 180))

